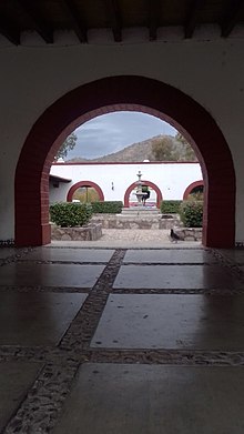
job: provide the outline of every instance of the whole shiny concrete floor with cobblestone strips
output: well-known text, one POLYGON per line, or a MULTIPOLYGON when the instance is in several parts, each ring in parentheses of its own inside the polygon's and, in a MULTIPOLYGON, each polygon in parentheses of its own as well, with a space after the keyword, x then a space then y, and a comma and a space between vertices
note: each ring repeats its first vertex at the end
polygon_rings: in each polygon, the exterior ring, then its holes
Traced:
POLYGON ((243 434, 243 312, 242 250, 2 248, 0 432, 243 434))

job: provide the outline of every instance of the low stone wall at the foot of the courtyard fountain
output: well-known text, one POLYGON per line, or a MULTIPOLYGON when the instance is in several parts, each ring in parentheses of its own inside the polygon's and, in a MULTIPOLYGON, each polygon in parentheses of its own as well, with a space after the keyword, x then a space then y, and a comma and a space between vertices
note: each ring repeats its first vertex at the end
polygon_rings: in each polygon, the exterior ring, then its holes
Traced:
POLYGON ((181 224, 175 214, 160 214, 159 216, 129 216, 122 214, 94 214, 93 223, 100 223, 103 229, 172 229, 181 224))

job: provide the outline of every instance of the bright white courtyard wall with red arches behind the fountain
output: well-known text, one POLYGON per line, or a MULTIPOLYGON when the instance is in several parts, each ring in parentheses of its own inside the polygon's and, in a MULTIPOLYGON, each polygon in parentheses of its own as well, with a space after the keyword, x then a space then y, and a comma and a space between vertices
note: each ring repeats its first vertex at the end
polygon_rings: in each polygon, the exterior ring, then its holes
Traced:
POLYGON ((159 186, 165 200, 182 200, 186 188, 203 179, 199 163, 53 164, 50 172, 52 175, 71 179, 72 182, 51 188, 50 202, 65 201, 71 186, 80 181, 98 184, 105 201, 123 202, 128 188, 138 181, 139 171, 142 180, 159 186))

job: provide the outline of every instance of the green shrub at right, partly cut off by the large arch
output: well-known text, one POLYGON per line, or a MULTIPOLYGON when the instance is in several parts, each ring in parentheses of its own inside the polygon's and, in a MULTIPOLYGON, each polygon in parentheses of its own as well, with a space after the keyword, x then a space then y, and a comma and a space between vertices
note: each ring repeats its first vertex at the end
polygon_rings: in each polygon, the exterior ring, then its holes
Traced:
POLYGON ((183 201, 180 206, 180 216, 186 228, 202 228, 203 201, 183 201))

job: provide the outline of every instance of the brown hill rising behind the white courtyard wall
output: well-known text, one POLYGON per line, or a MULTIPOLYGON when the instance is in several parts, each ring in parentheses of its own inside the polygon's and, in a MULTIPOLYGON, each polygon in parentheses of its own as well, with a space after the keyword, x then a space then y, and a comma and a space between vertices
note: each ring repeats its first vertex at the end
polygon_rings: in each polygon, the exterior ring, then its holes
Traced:
POLYGON ((154 138, 144 140, 139 143, 130 144, 129 147, 125 147, 121 151, 103 155, 96 159, 88 160, 83 158, 74 158, 71 160, 68 160, 67 162, 72 163, 82 163, 82 162, 99 162, 99 163, 123 163, 123 162, 142 162, 144 160, 150 161, 159 161, 159 159, 155 159, 152 148, 153 144, 156 142, 159 143, 162 139, 169 139, 171 145, 171 153, 165 155, 166 158, 161 159, 160 161, 196 161, 195 155, 191 153, 190 158, 187 158, 185 153, 185 145, 182 144, 179 140, 176 140, 172 135, 156 135, 154 138))

